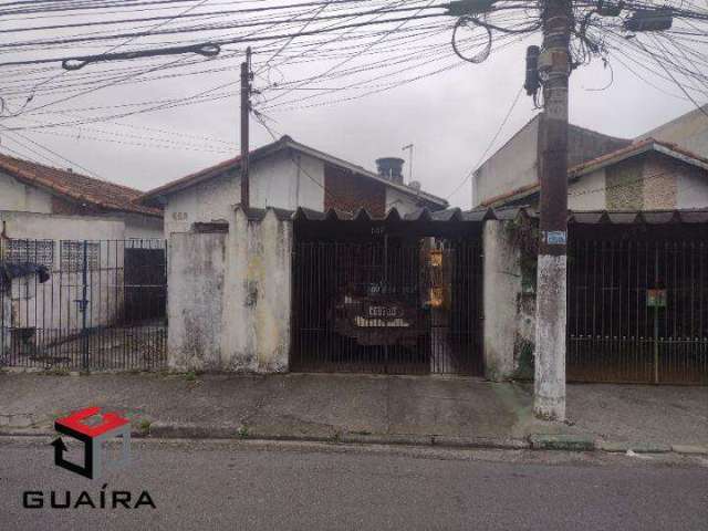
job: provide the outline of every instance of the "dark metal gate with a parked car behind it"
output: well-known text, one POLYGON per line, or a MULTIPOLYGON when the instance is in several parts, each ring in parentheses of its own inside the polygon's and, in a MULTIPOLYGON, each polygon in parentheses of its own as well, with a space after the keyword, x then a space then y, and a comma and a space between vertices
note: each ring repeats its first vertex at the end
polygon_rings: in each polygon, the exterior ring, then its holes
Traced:
POLYGON ((295 371, 481 375, 479 239, 295 243, 295 371))

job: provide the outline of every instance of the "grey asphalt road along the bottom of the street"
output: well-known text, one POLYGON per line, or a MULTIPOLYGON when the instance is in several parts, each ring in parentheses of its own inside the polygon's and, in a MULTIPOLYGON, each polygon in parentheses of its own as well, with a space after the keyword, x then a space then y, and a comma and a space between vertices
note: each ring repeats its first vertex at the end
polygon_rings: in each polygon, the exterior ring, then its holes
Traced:
POLYGON ((256 442, 133 441, 102 480, 53 465, 49 440, 0 440, 1 530, 708 529, 708 459, 530 451, 394 451, 256 442), (103 483, 156 509, 24 509, 103 483))

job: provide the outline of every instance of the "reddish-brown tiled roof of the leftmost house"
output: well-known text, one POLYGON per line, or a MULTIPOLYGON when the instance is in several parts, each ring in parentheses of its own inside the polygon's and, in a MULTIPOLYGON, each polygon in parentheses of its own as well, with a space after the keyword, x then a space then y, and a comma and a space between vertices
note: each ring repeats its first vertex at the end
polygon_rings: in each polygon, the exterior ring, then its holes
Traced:
POLYGON ((140 190, 94 179, 66 169, 53 168, 21 158, 0 155, 0 171, 19 181, 43 188, 52 194, 105 210, 162 217, 160 209, 137 202, 140 190))

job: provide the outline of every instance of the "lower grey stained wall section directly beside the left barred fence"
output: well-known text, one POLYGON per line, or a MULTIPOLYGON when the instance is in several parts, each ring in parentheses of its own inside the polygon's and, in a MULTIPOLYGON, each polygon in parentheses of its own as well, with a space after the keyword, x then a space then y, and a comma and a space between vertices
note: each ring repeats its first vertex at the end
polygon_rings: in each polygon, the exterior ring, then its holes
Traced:
POLYGON ((225 233, 179 233, 169 239, 168 364, 177 371, 217 371, 226 274, 225 233))

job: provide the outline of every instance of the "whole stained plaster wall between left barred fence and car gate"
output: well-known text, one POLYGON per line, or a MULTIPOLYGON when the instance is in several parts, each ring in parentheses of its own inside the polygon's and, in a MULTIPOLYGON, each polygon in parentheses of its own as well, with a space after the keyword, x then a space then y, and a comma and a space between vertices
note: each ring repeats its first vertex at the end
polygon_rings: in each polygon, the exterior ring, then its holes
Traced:
POLYGON ((169 365, 175 369, 288 371, 292 223, 237 209, 227 233, 173 233, 169 365))

